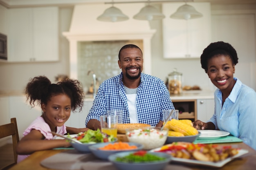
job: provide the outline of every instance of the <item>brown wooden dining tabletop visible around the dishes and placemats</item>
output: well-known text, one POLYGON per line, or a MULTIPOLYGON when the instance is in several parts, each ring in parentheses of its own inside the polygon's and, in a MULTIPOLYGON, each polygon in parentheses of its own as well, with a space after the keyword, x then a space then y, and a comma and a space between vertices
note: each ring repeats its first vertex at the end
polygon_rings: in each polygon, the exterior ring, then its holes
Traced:
MULTIPOLYGON (((117 137, 119 141, 125 141, 126 138, 124 135, 118 135, 117 137)), ((164 170, 181 170, 182 168, 190 169, 190 170, 255 170, 256 169, 256 150, 247 146, 243 142, 235 142, 235 143, 222 143, 219 145, 228 145, 234 148, 241 148, 248 150, 249 152, 241 157, 234 159, 221 168, 213 168, 208 166, 198 166, 184 163, 173 163, 170 162, 168 168, 164 170)), ((29 157, 16 164, 9 170, 55 170, 43 167, 40 165, 40 162, 44 159, 51 157, 55 154, 67 151, 67 149, 58 149, 58 150, 43 150, 37 151, 31 154, 29 157)), ((92 169, 93 170, 93 169, 92 169)))

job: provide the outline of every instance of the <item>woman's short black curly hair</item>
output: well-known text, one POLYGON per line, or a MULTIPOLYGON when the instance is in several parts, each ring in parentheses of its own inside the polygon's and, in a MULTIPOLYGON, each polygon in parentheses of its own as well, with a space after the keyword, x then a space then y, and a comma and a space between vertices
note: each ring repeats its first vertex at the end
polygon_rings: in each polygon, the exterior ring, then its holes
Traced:
POLYGON ((201 55, 201 66, 205 73, 208 71, 208 61, 216 55, 228 55, 232 64, 236 65, 238 63, 237 53, 233 46, 223 41, 213 42, 204 49, 201 55))

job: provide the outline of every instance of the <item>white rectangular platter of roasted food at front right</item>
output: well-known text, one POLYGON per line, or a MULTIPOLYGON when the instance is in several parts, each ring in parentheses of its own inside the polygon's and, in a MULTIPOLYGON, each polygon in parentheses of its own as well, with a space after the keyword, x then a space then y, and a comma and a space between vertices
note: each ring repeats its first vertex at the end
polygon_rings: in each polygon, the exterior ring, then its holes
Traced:
POLYGON ((170 154, 173 162, 220 168, 229 161, 248 153, 248 150, 217 144, 174 142, 150 152, 170 154))

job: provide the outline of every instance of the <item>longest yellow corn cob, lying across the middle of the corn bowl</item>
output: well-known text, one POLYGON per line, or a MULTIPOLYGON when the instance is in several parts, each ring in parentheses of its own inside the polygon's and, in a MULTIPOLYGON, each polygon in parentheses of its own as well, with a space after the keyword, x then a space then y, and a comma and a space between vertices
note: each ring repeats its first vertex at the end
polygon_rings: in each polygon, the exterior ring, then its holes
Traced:
POLYGON ((171 130, 176 131, 176 132, 181 132, 185 136, 198 134, 198 130, 196 130, 194 127, 186 125, 176 119, 171 119, 171 121, 167 122, 167 123, 168 123, 168 127, 170 127, 171 130))

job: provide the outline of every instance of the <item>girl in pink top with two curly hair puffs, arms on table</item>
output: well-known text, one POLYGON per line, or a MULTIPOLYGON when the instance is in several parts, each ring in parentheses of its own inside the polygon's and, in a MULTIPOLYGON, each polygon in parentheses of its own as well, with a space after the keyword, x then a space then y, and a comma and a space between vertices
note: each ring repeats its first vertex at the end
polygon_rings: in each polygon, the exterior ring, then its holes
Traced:
POLYGON ((54 139, 51 131, 65 135, 67 132, 78 134, 88 130, 64 125, 71 110, 82 110, 84 93, 79 81, 65 79, 63 82, 52 84, 47 77, 38 76, 30 80, 25 93, 29 104, 34 107, 36 102, 41 106, 43 113, 23 133, 24 137, 16 148, 18 162, 38 150, 70 146, 66 139, 51 140, 54 139))

